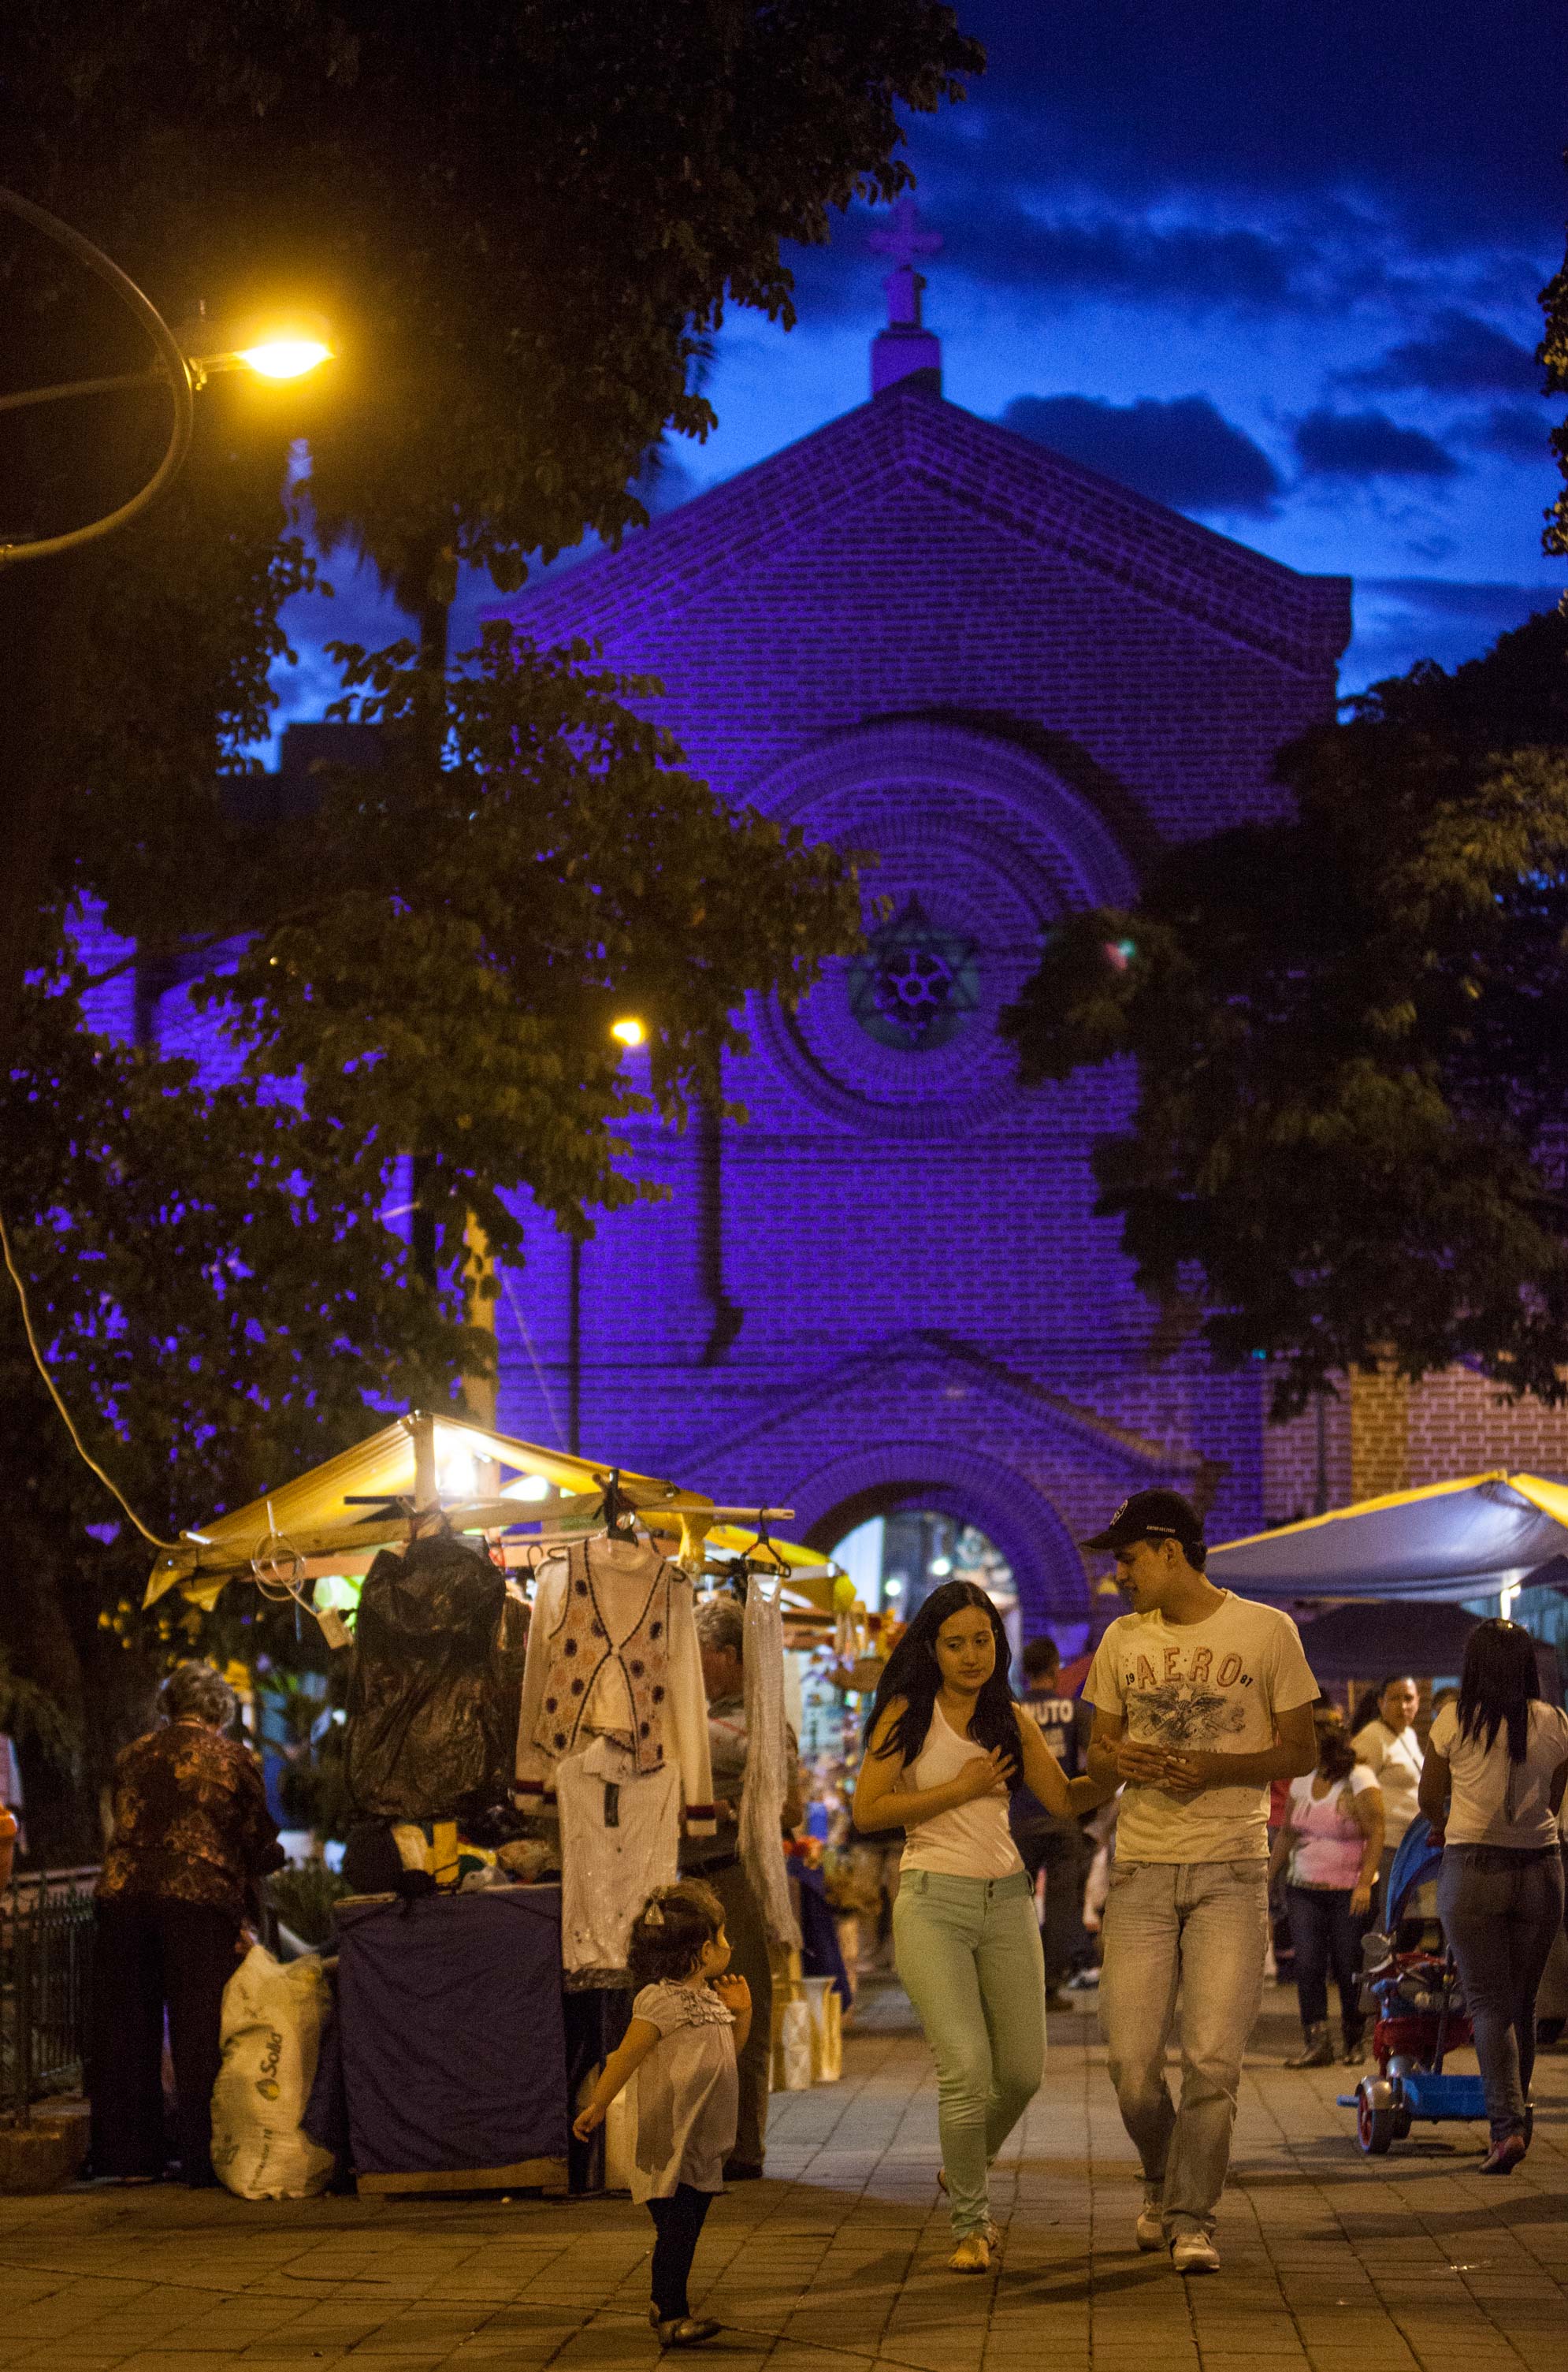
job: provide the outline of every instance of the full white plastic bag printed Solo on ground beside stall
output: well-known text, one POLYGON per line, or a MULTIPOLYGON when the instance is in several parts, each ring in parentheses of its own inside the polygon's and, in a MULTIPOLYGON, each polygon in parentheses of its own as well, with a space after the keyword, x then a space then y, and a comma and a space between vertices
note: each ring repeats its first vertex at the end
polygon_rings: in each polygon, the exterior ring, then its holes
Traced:
POLYGON ((237 2199, 315 2199, 332 2180, 332 2151, 299 2130, 330 2007, 315 1955, 285 1966, 263 1945, 223 1988, 213 2170, 237 2199))

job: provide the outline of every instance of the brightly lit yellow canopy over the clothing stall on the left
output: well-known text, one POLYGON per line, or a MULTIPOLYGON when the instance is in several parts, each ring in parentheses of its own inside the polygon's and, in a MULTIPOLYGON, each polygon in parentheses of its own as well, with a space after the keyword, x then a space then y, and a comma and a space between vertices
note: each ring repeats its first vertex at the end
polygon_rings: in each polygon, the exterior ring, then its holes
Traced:
MULTIPOLYGON (((721 1509, 702 1492, 659 1475, 614 1468, 600 1459, 520 1442, 463 1416, 396 1416, 380 1433, 251 1499, 216 1516, 199 1532, 183 1532, 152 1568, 142 1606, 178 1589, 192 1606, 211 1608, 235 1575, 256 1570, 256 1558, 287 1556, 301 1577, 353 1575, 387 1542, 408 1537, 408 1511, 439 1509, 453 1530, 493 1532, 505 1525, 588 1523, 605 1490, 619 1478, 622 1501, 643 1520, 669 1518, 669 1535, 705 1544, 724 1556, 757 1549, 757 1525, 742 1509, 721 1509), (548 1509, 546 1509, 548 1501, 548 1509)), ((837 1568, 816 1549, 769 1539, 761 1561, 788 1573, 788 1587, 814 1606, 833 1603, 837 1568)))

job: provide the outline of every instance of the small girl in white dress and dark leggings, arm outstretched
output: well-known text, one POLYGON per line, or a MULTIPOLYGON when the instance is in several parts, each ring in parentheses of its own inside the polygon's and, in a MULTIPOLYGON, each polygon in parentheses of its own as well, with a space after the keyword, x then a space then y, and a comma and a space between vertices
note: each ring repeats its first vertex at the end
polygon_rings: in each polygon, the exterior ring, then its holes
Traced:
POLYGON ((702 1879, 655 1888, 633 1919, 626 1957, 643 1990, 626 2040, 605 2061, 572 2130, 586 2142, 636 2076, 631 2196, 648 2201, 657 2234, 648 2320, 667 2348, 697 2348, 719 2325, 690 2315, 686 2277, 735 2147, 735 2054, 752 2028, 752 1995, 742 1976, 724 1974, 731 1964, 724 1905, 702 1879))

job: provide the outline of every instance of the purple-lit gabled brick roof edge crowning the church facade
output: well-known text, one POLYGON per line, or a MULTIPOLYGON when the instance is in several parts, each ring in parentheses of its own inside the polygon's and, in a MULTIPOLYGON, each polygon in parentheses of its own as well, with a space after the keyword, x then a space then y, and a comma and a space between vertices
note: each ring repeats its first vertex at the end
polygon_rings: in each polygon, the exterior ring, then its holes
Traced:
POLYGON ((1347 576, 1305 576, 1267 560, 911 380, 667 512, 619 553, 584 560, 489 614, 510 617, 541 643, 619 636, 894 484, 923 486, 1008 541, 1286 667, 1326 669, 1350 640, 1347 576))

